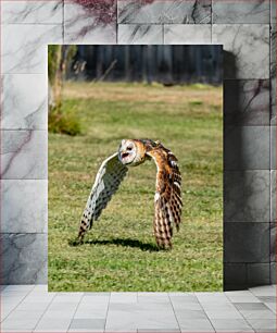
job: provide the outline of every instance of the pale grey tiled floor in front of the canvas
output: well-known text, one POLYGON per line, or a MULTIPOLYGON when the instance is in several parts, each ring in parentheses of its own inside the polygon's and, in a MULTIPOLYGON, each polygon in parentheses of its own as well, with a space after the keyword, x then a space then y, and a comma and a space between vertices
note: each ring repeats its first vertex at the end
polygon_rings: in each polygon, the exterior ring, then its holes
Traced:
POLYGON ((1 286, 0 332, 276 332, 276 286, 226 293, 48 293, 1 286))

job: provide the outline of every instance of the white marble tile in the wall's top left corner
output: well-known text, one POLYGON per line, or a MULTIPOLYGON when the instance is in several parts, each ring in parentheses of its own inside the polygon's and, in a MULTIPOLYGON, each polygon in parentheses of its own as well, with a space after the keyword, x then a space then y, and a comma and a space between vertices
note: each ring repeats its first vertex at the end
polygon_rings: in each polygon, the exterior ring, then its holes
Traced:
POLYGON ((62 24, 62 0, 3 0, 1 3, 2 24, 7 23, 53 23, 62 24))

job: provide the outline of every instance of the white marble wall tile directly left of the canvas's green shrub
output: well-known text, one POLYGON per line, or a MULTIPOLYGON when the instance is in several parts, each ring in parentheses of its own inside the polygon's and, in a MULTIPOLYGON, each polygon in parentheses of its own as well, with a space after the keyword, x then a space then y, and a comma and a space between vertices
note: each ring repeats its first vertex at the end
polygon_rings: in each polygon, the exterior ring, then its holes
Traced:
POLYGON ((2 89, 1 128, 47 130, 46 74, 5 74, 2 89))

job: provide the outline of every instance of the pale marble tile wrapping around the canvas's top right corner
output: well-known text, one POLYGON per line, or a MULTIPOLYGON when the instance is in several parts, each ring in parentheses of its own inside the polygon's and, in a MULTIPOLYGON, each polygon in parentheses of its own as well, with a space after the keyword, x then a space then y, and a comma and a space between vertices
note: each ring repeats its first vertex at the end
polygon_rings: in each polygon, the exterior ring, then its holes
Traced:
POLYGON ((224 78, 269 78, 269 25, 215 24, 212 42, 224 45, 224 78))

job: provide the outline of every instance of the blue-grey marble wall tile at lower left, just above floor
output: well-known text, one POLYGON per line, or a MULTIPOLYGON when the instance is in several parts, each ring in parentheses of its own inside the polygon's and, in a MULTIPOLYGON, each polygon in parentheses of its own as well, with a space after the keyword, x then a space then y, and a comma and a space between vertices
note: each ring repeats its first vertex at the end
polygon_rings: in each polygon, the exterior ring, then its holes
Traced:
POLYGON ((1 284, 47 283, 47 234, 2 234, 1 284))

